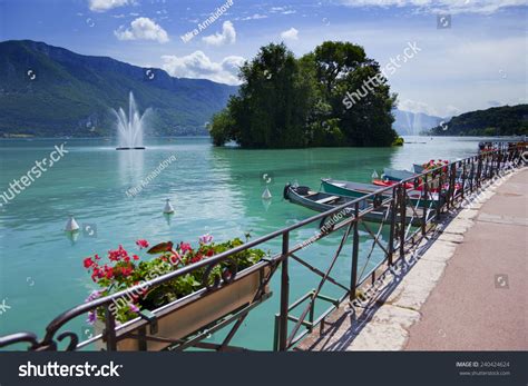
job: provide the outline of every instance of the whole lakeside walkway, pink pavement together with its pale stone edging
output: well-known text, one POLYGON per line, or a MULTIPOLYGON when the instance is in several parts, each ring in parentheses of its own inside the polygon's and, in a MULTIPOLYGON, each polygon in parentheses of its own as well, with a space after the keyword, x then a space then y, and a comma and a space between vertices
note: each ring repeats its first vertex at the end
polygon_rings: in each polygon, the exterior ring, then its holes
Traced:
POLYGON ((526 350, 528 169, 424 240, 375 296, 343 305, 300 350, 526 350))

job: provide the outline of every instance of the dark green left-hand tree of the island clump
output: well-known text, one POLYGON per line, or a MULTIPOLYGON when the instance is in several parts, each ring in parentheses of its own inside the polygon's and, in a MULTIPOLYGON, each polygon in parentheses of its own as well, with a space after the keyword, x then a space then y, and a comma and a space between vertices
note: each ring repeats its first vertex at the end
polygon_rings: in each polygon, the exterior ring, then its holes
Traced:
POLYGON ((247 148, 304 147, 309 86, 284 44, 263 47, 239 73, 238 97, 211 127, 214 142, 235 140, 247 148))

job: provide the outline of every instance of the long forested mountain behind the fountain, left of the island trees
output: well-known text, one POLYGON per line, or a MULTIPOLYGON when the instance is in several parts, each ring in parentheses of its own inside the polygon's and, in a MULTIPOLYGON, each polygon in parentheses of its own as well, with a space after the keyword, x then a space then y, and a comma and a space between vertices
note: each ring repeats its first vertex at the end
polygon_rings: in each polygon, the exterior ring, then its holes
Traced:
POLYGON ((113 135, 111 109, 128 106, 130 91, 140 110, 153 109, 147 136, 176 136, 207 133, 237 88, 43 42, 0 42, 0 137, 113 135))

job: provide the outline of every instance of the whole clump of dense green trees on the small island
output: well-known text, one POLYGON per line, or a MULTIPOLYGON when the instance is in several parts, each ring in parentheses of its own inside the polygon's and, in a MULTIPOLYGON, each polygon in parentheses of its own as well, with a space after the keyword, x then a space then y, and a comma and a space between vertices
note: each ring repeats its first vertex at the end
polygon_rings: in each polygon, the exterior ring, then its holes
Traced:
POLYGON ((241 148, 389 147, 397 95, 361 46, 325 41, 295 58, 270 43, 241 68, 242 85, 208 126, 215 146, 241 148), (343 96, 373 77, 382 82, 353 108, 343 96))

